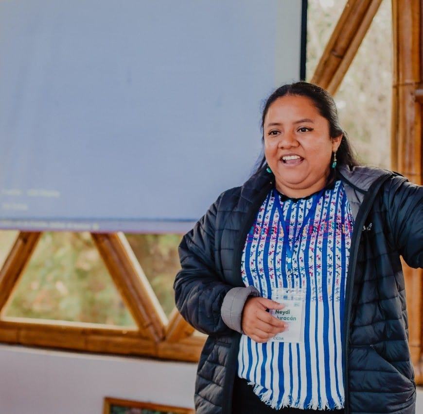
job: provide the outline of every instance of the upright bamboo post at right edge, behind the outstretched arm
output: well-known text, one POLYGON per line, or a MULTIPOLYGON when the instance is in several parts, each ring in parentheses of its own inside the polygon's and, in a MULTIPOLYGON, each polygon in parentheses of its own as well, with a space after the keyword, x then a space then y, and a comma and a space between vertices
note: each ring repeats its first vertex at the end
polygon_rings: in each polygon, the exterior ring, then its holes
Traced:
MULTIPOLYGON (((393 87, 391 168, 411 182, 422 176, 422 0, 392 0, 393 87)), ((423 384, 423 270, 403 261, 411 359, 416 382, 423 384)))

